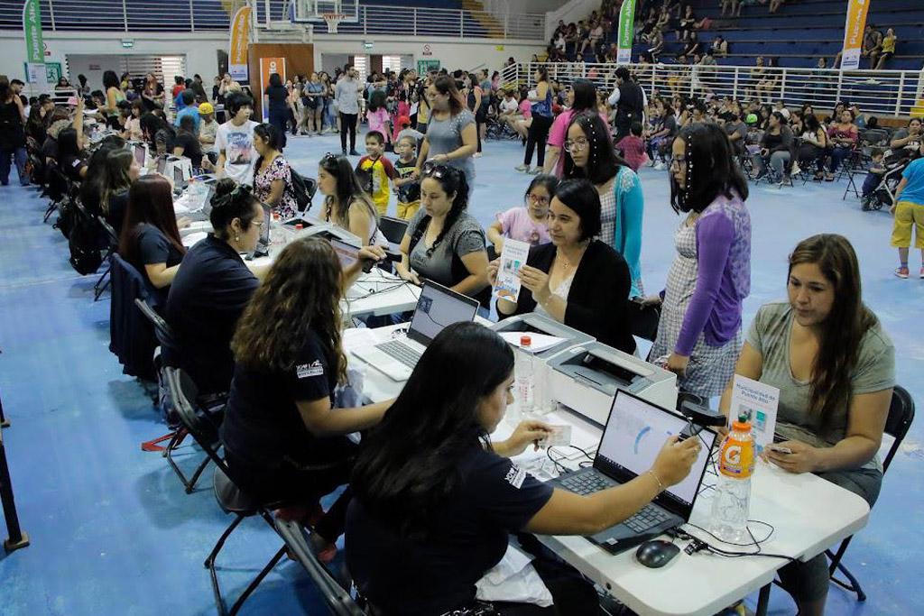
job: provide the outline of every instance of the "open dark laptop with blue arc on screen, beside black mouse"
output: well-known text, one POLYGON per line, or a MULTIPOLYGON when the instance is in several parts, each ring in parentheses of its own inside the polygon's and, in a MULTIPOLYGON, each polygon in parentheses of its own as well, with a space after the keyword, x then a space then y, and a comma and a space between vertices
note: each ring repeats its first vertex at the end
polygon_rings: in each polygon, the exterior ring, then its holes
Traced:
POLYGON ((715 433, 690 424, 675 411, 618 390, 593 466, 565 473, 549 482, 577 494, 624 484, 650 469, 664 441, 673 434, 679 434, 681 440, 701 438, 703 441, 690 474, 677 485, 665 489, 625 522, 587 537, 592 543, 616 554, 686 524, 709 465, 715 433))

